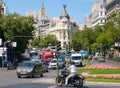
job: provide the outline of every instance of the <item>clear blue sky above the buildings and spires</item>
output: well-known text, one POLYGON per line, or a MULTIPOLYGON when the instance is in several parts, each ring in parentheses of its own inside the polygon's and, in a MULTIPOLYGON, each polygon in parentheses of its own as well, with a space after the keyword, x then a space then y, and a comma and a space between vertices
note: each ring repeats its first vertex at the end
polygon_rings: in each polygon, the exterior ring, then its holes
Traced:
MULTIPOLYGON (((91 13, 91 7, 96 0, 3 0, 9 13, 17 12, 25 15, 27 11, 39 12, 42 2, 49 18, 59 17, 63 11, 63 4, 67 5, 67 12, 77 23, 84 23, 85 17, 91 13)), ((100 0, 99 0, 100 1, 100 0)))

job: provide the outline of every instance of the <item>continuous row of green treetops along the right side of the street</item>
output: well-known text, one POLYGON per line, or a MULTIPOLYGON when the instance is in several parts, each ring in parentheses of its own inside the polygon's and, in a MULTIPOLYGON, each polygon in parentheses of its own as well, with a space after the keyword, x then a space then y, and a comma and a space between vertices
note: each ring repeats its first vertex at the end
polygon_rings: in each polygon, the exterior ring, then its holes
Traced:
POLYGON ((77 31, 72 37, 74 50, 90 50, 106 52, 120 39, 120 13, 113 21, 102 26, 85 28, 77 31), (89 47, 89 49, 88 49, 89 47))

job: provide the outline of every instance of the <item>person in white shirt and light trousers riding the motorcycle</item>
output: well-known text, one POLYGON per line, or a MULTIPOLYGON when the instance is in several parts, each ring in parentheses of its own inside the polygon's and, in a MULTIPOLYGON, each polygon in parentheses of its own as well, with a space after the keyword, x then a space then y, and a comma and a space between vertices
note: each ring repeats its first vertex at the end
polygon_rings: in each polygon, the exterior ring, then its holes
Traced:
POLYGON ((65 85, 68 84, 68 80, 69 80, 71 77, 74 77, 74 76, 76 75, 76 66, 74 65, 74 62, 71 62, 71 65, 70 65, 70 67, 68 68, 68 70, 70 71, 70 74, 66 77, 65 85))

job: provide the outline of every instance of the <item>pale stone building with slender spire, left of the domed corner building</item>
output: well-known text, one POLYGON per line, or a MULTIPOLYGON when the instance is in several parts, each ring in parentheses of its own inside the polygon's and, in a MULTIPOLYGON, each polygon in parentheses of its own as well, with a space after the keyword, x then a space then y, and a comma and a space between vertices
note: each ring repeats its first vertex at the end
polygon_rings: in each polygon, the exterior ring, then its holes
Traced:
POLYGON ((49 29, 49 19, 46 15, 46 9, 44 7, 44 3, 42 3, 42 7, 40 8, 39 13, 30 11, 26 13, 26 16, 33 16, 35 19, 36 27, 35 36, 44 38, 47 36, 47 30, 49 29))

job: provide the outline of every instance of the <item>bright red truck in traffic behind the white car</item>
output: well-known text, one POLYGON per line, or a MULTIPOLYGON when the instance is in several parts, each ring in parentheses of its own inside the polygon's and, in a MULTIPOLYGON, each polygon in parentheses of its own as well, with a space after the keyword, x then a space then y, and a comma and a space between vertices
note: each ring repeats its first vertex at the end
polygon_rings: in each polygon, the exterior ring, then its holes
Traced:
POLYGON ((42 61, 49 63, 52 59, 54 59, 53 51, 43 51, 42 52, 42 61))

